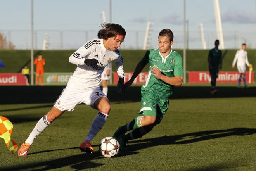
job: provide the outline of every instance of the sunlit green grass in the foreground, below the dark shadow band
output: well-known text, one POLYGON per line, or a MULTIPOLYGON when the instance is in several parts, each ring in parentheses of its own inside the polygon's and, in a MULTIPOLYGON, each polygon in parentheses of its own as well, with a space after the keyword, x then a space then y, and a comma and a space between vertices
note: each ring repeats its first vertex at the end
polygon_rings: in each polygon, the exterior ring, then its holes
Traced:
MULTIPOLYGON (((255 171, 255 102, 255 97, 170 100, 163 121, 112 159, 99 154, 98 144, 137 117, 140 102, 112 102, 105 126, 92 141, 92 155, 78 146, 97 111, 78 105, 48 126, 26 157, 12 155, 2 140, 0 170, 255 171)), ((13 122, 12 138, 20 145, 51 106, 0 105, 0 115, 13 122)))

